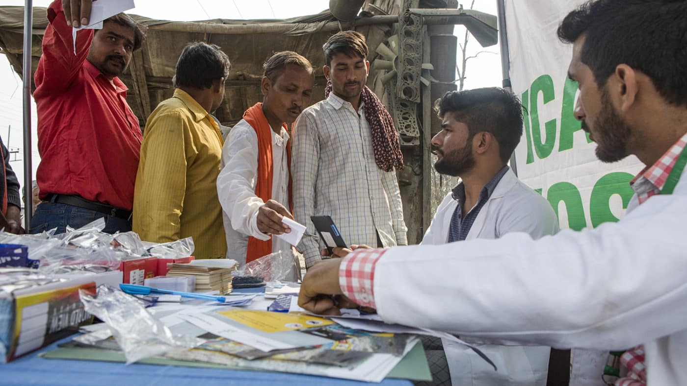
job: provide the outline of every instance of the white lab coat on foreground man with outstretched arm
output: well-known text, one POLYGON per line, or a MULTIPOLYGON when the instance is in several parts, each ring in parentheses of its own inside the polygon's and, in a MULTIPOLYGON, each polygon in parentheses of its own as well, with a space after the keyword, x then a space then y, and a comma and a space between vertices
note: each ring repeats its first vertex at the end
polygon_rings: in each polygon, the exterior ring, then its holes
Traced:
POLYGON ((534 241, 390 248, 374 299, 386 322, 557 348, 644 343, 649 385, 687 385, 687 178, 618 223, 534 241), (403 291, 398 291, 402 283, 403 291))

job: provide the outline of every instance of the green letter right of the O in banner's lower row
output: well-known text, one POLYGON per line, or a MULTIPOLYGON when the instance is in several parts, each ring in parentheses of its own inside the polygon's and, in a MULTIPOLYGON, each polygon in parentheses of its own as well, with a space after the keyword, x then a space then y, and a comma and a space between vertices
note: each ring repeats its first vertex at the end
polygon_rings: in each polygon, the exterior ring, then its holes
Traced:
POLYGON ((602 223, 618 221, 616 216, 611 213, 609 200, 612 195, 620 195, 622 198, 622 208, 627 209, 634 191, 630 187, 630 180, 633 176, 630 173, 616 171, 608 173, 599 178, 592 189, 592 200, 589 201, 589 217, 592 217, 592 226, 596 228, 602 223))

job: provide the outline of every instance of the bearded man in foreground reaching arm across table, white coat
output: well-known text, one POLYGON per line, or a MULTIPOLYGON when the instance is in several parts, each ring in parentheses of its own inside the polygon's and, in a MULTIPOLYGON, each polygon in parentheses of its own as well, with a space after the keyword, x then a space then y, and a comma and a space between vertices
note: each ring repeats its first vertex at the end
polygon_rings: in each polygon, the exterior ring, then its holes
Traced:
POLYGON ((630 349, 629 378, 616 385, 687 385, 685 14, 684 0, 597 0, 559 26, 572 43, 575 117, 596 155, 613 162, 633 154, 646 165, 631 181, 635 197, 623 219, 539 240, 515 232, 357 250, 313 266, 300 306, 337 313, 342 302, 326 295, 344 295, 385 322, 556 348, 630 349))

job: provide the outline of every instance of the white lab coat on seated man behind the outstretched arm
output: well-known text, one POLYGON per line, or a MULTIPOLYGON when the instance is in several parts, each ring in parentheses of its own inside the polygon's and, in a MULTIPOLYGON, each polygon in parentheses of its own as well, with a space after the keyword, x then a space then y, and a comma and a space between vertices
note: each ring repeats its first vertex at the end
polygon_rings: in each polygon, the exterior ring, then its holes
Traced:
MULTIPOLYGON (((449 192, 437 208, 421 245, 447 243, 451 217, 457 207, 458 201, 453 200, 449 192)), ((498 239, 509 232, 526 232, 533 239, 539 239, 558 231, 559 222, 549 202, 508 169, 482 206, 466 240, 498 239)), ((505 341, 498 342, 503 344, 473 342, 495 362, 498 368, 495 372, 470 348, 447 339, 442 339, 442 343, 453 385, 546 384, 550 347, 519 346, 505 341)))

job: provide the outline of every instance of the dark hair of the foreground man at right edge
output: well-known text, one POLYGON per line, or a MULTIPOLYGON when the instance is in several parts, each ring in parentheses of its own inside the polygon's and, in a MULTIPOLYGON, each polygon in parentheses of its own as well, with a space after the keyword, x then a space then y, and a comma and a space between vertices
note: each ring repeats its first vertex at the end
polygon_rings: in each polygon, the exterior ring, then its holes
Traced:
POLYGON ((581 61, 605 86, 618 64, 651 78, 669 104, 687 106, 687 1, 589 1, 565 16, 558 28, 563 43, 583 34, 581 61))

